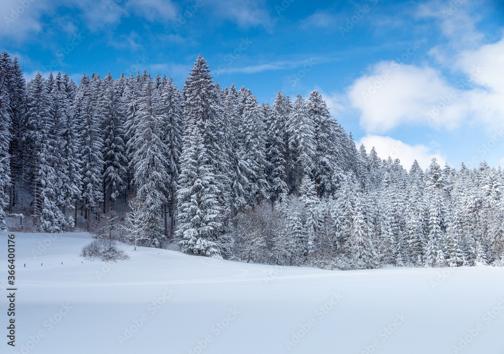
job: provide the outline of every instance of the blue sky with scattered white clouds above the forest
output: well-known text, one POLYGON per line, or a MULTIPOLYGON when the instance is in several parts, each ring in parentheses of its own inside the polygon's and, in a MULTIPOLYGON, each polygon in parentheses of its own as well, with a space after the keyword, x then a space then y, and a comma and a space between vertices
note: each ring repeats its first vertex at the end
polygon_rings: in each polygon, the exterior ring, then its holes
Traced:
POLYGON ((313 89, 367 150, 504 166, 504 4, 2 0, 0 46, 37 72, 147 69, 181 87, 199 53, 221 86, 313 89))

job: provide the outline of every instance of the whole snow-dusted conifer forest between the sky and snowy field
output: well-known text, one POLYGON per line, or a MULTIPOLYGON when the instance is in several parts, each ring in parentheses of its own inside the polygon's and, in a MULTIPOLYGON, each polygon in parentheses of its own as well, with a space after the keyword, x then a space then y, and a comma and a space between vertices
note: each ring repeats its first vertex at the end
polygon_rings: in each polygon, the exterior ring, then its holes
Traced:
POLYGON ((37 74, 0 57, 0 222, 329 269, 504 263, 504 173, 357 149, 319 92, 37 74), (105 226, 108 224, 108 231, 105 226), (108 233, 107 233, 108 232, 108 233))

